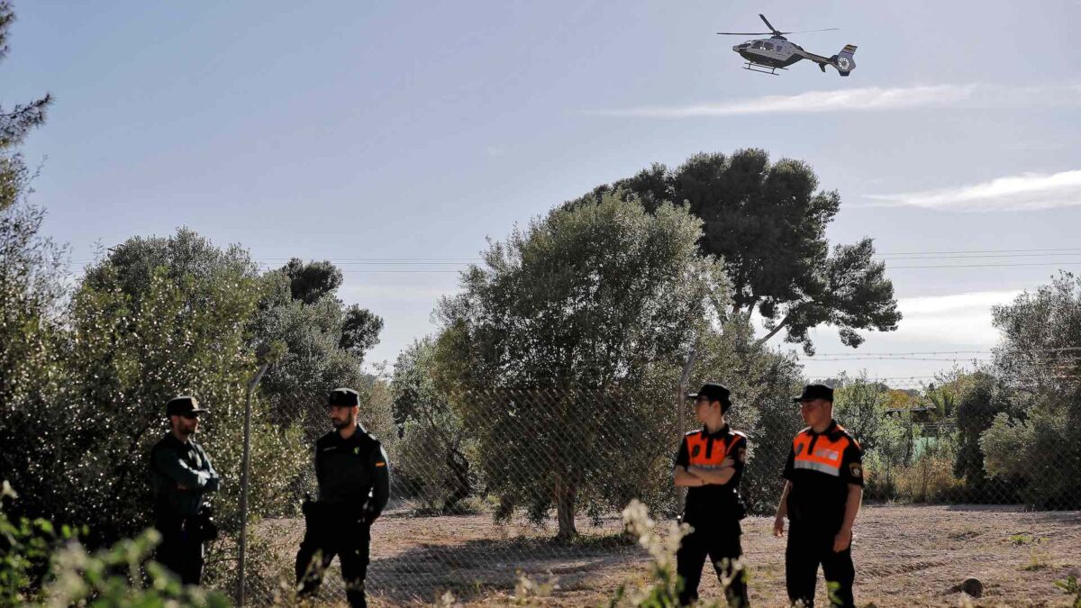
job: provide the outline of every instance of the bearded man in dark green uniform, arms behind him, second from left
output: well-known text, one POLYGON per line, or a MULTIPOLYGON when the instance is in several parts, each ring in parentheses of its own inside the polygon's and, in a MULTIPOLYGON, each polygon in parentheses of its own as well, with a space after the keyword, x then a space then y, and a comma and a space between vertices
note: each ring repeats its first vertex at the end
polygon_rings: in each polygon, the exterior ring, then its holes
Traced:
POLYGON ((357 423, 359 405, 352 388, 335 388, 328 398, 334 431, 316 441, 319 500, 304 503, 306 530, 296 554, 296 582, 308 597, 319 591, 323 571, 337 555, 353 608, 368 606, 371 526, 390 498, 387 452, 357 423))

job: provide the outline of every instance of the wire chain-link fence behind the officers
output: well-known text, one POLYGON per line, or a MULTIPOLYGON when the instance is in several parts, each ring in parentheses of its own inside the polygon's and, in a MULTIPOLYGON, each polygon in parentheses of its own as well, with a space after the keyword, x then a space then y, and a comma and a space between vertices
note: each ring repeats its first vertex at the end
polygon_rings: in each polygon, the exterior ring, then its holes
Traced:
MULTIPOLYGON (((672 459, 681 435, 700 423, 689 401, 677 405, 678 382, 464 391, 414 404, 381 437, 392 488, 372 530, 372 603, 424 604, 451 592, 466 604, 498 604, 524 573, 555 583, 545 603, 602 605, 618 585, 648 578, 648 557, 623 533, 619 514, 631 499, 657 519, 679 513, 672 459)), ((857 599, 951 603, 967 578, 1005 604, 1058 597, 1054 581, 1081 561, 1081 515, 1069 511, 1081 507, 1075 404, 1026 396, 983 373, 827 382, 835 418, 864 448, 857 599)), ((744 550, 751 598, 764 605, 785 603, 784 540, 771 531, 780 472, 804 426, 791 400, 798 388, 736 391, 729 412, 749 436, 744 550)), ((295 413, 309 444, 330 428, 308 410, 295 413)), ((362 423, 365 415, 362 408, 362 423)), ((295 505, 306 491, 310 465, 280 513, 249 527, 249 605, 291 600, 304 533, 295 505)), ((711 585, 705 577, 705 597, 718 596, 711 585)), ((336 563, 319 602, 345 602, 336 563)))

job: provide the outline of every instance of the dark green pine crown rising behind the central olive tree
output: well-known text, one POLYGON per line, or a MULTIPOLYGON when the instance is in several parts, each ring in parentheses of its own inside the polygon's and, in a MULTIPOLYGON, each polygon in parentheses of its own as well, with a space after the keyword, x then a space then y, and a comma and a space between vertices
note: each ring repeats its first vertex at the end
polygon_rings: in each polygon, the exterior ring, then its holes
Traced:
POLYGON ((764 150, 752 148, 731 156, 698 154, 675 170, 653 164, 565 207, 620 190, 650 212, 666 201, 685 206, 705 222, 702 251, 724 259, 732 312, 749 316, 757 309, 770 336, 785 329, 787 341, 811 354, 808 331, 819 325, 837 327, 844 344, 858 346, 863 338, 856 330, 893 331, 900 320, 893 283, 884 263, 873 260, 871 239, 830 253, 826 227, 841 199, 817 188, 805 162, 771 163, 764 150))

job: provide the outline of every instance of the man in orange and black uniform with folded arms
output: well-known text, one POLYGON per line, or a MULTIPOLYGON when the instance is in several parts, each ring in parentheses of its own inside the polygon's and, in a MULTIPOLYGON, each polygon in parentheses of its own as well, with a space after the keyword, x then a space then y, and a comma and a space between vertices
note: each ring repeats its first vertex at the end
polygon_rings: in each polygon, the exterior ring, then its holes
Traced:
POLYGON ((718 579, 731 579, 725 591, 729 605, 749 606, 745 572, 733 568, 743 556, 739 520, 746 510, 739 498, 739 480, 747 460, 747 436, 724 422, 732 407, 724 386, 709 383, 688 398, 694 399, 703 427, 688 433, 676 454, 676 486, 688 488, 680 520, 692 528, 676 553, 676 571, 682 581, 679 602, 689 606, 698 599, 702 567, 709 556, 718 579))

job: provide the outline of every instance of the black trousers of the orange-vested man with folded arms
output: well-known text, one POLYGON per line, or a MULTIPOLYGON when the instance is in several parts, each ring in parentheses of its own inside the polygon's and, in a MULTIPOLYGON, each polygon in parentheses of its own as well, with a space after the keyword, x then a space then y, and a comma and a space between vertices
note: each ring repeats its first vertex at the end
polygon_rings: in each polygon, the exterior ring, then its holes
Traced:
MULTIPOLYGON (((702 581, 702 567, 706 557, 713 564, 718 580, 732 577, 732 563, 743 556, 739 545, 742 530, 738 521, 715 523, 695 526, 694 530, 683 537, 679 551, 676 552, 676 573, 683 581, 679 592, 680 606, 690 606, 698 599, 698 583, 702 581), (728 559, 728 564, 723 560, 728 559)), ((750 606, 747 598, 746 571, 736 572, 724 593, 729 606, 750 606)))

